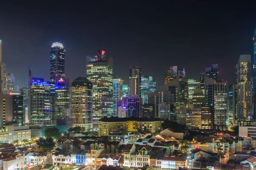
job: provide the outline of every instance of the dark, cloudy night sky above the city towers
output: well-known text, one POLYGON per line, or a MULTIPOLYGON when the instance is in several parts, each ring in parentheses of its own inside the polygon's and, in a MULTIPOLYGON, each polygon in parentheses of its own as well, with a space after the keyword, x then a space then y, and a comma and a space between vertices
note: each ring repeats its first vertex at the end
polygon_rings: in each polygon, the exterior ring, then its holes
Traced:
POLYGON ((103 49, 113 57, 114 77, 128 84, 129 67, 139 66, 157 86, 164 85, 170 66, 198 78, 216 63, 219 78, 232 84, 239 55, 253 54, 255 4, 32 2, 0 4, 3 62, 19 87, 28 84, 29 66, 34 77, 49 81, 53 42, 66 49, 66 77, 71 80, 86 76, 86 56, 103 49))

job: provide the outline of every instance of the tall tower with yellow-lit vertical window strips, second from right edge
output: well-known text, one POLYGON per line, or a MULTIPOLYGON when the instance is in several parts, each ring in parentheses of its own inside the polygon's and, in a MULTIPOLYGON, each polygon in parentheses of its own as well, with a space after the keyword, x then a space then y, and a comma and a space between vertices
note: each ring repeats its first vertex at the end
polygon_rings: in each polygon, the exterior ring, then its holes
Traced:
POLYGON ((240 55, 236 65, 237 118, 252 119, 253 95, 251 83, 251 56, 240 55))

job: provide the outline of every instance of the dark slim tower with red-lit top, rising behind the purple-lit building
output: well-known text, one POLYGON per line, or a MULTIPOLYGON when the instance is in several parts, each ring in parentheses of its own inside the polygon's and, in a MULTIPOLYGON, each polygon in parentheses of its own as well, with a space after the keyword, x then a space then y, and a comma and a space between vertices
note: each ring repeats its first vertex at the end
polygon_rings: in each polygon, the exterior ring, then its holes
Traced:
POLYGON ((129 88, 131 97, 141 97, 141 68, 130 68, 129 88))

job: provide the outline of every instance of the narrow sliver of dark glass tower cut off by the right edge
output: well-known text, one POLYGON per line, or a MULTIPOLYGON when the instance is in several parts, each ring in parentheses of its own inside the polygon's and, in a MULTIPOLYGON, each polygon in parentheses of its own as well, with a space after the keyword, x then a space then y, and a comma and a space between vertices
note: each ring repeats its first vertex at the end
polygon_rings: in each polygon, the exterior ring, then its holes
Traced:
POLYGON ((255 116, 256 115, 256 28, 254 30, 254 35, 253 35, 253 110, 254 110, 253 114, 255 116))

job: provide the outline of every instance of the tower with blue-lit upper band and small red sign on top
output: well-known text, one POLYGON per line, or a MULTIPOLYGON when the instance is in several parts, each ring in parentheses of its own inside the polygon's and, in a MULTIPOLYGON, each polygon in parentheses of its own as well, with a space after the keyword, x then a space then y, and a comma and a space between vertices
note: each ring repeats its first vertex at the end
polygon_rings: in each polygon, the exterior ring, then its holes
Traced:
POLYGON ((58 125, 58 121, 66 118, 71 118, 70 108, 70 79, 56 79, 55 80, 55 109, 54 115, 52 115, 54 123, 58 125))

